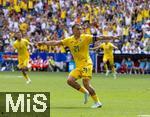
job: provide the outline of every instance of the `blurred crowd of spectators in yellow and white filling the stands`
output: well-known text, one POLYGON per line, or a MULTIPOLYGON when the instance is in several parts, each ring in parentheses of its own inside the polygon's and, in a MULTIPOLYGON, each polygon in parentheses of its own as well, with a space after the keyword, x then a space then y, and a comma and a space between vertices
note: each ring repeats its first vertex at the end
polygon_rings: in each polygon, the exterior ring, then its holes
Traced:
MULTIPOLYGON (((61 40, 72 25, 93 35, 119 35, 117 53, 150 53, 149 0, 0 0, 0 52, 14 52, 15 33, 30 42, 61 40)), ((64 53, 62 46, 30 52, 64 53)))

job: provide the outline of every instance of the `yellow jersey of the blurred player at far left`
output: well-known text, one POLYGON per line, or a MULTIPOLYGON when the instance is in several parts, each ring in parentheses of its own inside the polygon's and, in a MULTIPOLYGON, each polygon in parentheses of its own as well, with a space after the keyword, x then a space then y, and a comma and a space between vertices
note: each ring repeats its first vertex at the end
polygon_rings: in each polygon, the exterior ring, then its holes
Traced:
POLYGON ((16 40, 13 47, 17 49, 18 57, 29 57, 28 45, 30 42, 26 39, 21 39, 21 41, 16 40))

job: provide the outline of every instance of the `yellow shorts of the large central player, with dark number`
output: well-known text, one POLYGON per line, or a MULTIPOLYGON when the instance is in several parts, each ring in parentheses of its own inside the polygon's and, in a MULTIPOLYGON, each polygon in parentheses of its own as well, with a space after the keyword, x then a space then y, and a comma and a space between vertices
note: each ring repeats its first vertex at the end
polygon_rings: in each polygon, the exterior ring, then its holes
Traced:
POLYGON ((74 77, 75 79, 80 79, 80 78, 92 78, 92 70, 93 70, 93 66, 92 65, 87 65, 85 67, 81 67, 81 68, 76 68, 74 70, 72 70, 69 74, 69 76, 74 77))

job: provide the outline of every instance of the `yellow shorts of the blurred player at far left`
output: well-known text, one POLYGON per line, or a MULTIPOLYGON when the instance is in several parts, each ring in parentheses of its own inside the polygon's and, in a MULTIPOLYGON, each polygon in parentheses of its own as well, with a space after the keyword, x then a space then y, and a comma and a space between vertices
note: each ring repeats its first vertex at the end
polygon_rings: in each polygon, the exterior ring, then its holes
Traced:
POLYGON ((29 58, 19 59, 18 58, 18 67, 19 69, 26 68, 29 65, 29 58))

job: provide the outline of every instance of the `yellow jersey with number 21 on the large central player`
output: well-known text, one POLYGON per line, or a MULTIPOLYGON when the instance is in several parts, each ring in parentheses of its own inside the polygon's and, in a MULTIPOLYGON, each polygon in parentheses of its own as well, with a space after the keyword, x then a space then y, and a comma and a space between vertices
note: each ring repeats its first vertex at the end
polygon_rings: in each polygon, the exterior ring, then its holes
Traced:
POLYGON ((82 34, 80 39, 75 39, 74 36, 62 40, 64 46, 69 47, 76 67, 83 67, 92 64, 89 55, 89 44, 92 42, 92 35, 82 34))

